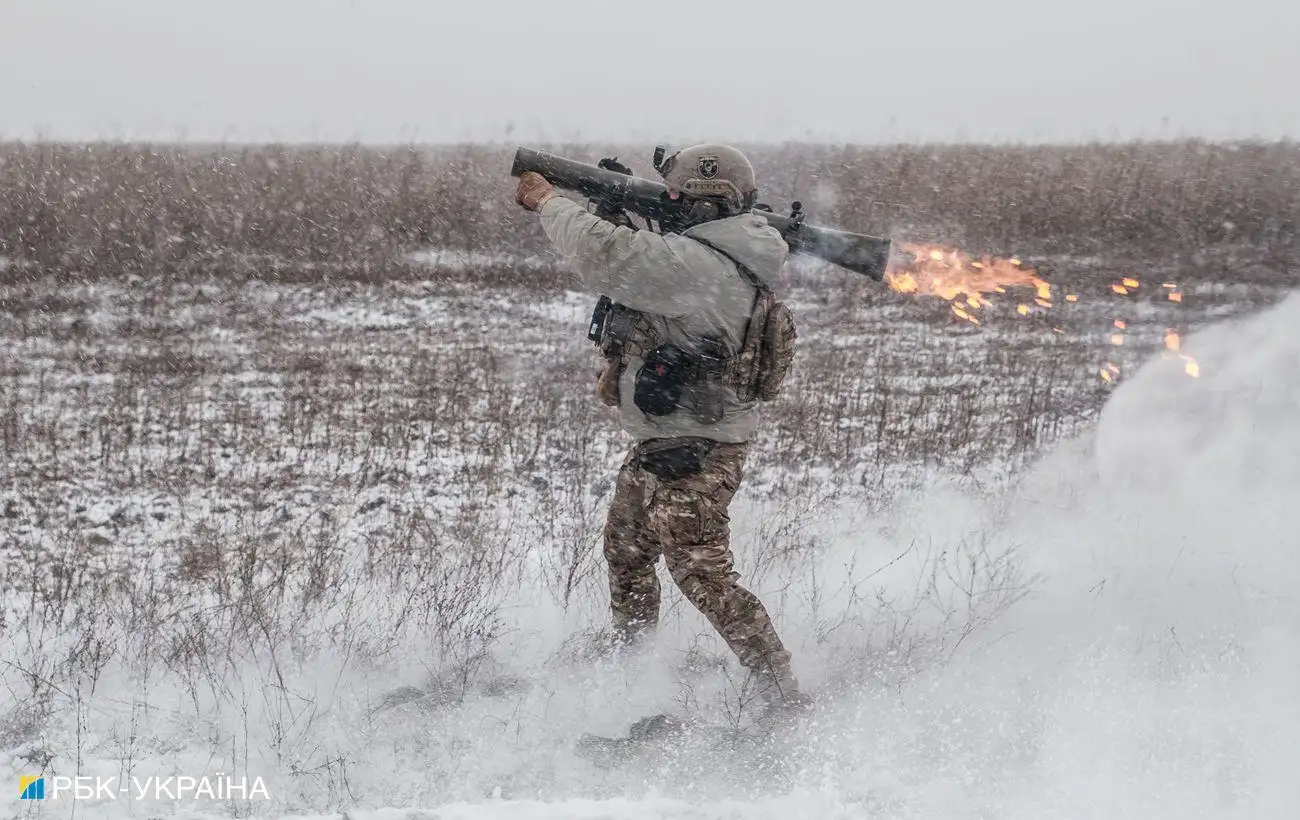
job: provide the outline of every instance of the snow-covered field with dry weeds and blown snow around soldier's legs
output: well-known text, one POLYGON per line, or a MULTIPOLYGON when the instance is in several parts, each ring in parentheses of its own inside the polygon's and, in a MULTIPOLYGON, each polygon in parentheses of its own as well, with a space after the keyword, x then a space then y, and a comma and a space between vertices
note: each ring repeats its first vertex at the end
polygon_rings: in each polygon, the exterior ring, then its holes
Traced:
POLYGON ((614 768, 573 739, 668 710, 744 729, 751 704, 671 583, 650 651, 585 651, 625 444, 589 296, 424 260, 329 287, 10 279, 0 773, 270 798, 5 808, 1296 816, 1295 282, 1245 251, 1036 263, 1079 301, 979 326, 800 272, 797 377, 732 519, 819 710, 614 768), (1110 292, 1138 273, 1183 303, 1110 292))

